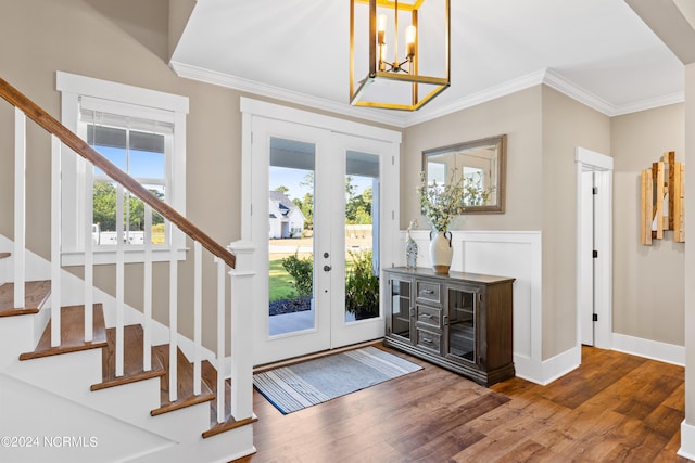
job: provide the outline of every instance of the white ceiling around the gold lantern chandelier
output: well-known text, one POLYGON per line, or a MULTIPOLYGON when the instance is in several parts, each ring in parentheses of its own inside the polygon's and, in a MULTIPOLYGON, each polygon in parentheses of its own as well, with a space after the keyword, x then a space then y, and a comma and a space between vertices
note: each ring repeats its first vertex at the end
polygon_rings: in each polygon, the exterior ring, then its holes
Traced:
POLYGON ((198 0, 172 67, 401 127, 541 82, 610 116, 683 101, 682 63, 623 0, 451 3, 452 85, 414 113, 350 106, 349 0, 198 0))

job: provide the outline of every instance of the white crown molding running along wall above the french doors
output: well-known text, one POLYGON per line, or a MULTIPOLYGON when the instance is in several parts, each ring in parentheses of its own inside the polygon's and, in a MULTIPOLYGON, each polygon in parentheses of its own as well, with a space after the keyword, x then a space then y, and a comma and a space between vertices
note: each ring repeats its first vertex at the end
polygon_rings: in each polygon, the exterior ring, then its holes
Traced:
POLYGON ((371 120, 374 123, 386 124, 397 128, 405 127, 405 118, 403 115, 392 111, 369 110, 355 107, 350 104, 337 103, 318 97, 312 97, 305 93, 294 92, 280 87, 268 86, 249 79, 230 76, 224 73, 205 69, 198 66, 172 61, 169 67, 177 76, 191 80, 198 80, 205 83, 226 87, 242 92, 253 93, 262 97, 273 98, 290 103, 308 106, 317 110, 324 110, 344 116, 355 117, 363 120, 371 120))

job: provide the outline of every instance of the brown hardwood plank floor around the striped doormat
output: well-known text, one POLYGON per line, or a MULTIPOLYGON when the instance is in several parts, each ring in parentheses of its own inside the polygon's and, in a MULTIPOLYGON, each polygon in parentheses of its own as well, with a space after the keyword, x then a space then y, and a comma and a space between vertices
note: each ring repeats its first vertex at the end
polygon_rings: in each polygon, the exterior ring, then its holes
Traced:
MULTIPOLYGON (((378 347, 381 347, 380 345, 378 347)), ((282 415, 254 391, 257 453, 240 462, 687 462, 680 366, 590 347, 539 386, 424 370, 282 415)))

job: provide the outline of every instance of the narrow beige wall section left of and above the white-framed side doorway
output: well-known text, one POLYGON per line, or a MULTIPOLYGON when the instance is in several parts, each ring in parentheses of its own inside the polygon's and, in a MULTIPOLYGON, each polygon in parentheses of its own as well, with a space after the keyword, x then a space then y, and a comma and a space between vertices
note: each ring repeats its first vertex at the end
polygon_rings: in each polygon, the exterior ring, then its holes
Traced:
POLYGON ((610 119, 543 86, 543 359, 577 344, 576 150, 610 155, 610 119))

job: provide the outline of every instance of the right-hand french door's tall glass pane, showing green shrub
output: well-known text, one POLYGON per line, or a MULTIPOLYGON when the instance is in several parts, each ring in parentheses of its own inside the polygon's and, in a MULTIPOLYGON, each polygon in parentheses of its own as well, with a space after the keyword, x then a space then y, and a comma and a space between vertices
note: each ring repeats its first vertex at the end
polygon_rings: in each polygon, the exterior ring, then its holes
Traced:
POLYGON ((345 157, 345 322, 379 317, 379 156, 345 157))

